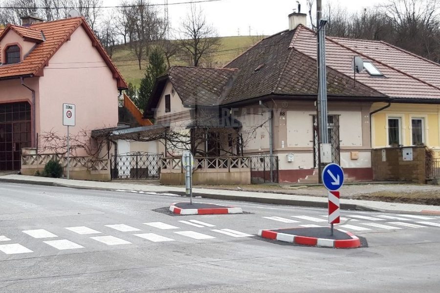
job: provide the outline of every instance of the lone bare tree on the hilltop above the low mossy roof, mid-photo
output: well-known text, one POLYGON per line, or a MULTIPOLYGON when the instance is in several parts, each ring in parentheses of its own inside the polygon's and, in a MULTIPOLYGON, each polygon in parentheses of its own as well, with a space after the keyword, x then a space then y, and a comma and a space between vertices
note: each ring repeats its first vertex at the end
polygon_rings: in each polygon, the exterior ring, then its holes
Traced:
POLYGON ((200 8, 191 4, 190 13, 177 31, 180 45, 191 55, 192 65, 198 67, 201 59, 220 47, 217 30, 208 24, 200 8))

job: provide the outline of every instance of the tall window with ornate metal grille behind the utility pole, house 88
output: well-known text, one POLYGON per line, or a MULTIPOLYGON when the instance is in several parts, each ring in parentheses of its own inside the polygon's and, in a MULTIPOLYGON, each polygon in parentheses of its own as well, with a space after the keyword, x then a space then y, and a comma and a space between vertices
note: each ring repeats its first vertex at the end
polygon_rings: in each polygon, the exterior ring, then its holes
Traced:
MULTIPOLYGON (((329 115, 327 131, 331 145, 331 161, 340 164, 340 139, 339 139, 339 115, 329 115)), ((313 167, 318 167, 319 145, 318 145, 318 123, 313 115, 313 167)))

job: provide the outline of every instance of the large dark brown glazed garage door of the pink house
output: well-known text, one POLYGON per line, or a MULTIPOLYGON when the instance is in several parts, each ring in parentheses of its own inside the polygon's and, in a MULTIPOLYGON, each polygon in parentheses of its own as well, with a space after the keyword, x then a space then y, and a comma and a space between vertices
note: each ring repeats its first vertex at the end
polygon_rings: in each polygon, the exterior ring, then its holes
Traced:
POLYGON ((0 104, 0 171, 20 170, 22 148, 31 140, 29 103, 0 104))

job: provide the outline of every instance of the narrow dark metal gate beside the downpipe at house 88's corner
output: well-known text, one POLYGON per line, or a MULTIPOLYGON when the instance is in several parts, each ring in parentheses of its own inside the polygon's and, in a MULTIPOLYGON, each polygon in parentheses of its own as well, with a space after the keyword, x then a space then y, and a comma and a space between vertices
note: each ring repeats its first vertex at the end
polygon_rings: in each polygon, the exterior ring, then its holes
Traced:
POLYGON ((277 156, 253 156, 249 157, 251 183, 278 183, 278 157, 277 156), (272 165, 272 168, 270 166, 272 165), (272 181, 270 173, 272 172, 272 181))

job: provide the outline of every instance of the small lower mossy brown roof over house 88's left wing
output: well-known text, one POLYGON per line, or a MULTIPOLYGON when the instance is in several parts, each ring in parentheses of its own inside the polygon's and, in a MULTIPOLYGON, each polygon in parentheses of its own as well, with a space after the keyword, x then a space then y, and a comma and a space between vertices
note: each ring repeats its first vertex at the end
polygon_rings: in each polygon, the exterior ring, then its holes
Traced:
POLYGON ((213 106, 229 92, 237 69, 173 66, 168 78, 183 105, 213 106))

